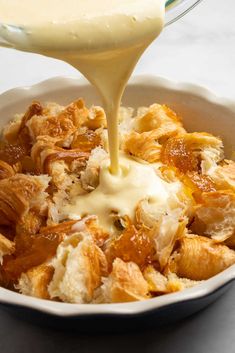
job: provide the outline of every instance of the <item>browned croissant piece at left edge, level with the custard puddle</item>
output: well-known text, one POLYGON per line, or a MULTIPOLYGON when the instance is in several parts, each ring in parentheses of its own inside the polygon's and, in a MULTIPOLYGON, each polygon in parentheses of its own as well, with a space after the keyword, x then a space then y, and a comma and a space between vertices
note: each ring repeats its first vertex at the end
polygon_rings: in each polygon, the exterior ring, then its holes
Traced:
POLYGON ((0 224, 17 223, 30 209, 43 214, 49 180, 48 176, 24 174, 0 180, 0 224))

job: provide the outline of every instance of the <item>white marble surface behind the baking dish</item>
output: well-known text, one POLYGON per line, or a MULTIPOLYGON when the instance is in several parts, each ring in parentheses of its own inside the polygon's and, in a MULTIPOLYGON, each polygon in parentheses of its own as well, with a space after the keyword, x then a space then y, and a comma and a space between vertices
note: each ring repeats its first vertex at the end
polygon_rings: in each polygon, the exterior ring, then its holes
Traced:
MULTIPOLYGON (((221 96, 235 98, 234 13, 234 0, 204 0, 165 29, 142 57, 135 74, 199 83, 221 96)), ((76 77, 79 73, 57 60, 0 49, 0 92, 59 75, 76 77)))

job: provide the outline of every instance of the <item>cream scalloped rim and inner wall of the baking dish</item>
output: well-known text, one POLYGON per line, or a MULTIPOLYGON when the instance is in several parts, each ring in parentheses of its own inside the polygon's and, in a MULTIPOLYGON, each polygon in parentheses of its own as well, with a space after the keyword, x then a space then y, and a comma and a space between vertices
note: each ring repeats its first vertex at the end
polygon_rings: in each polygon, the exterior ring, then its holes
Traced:
MULTIPOLYGON (((83 97, 87 104, 100 104, 94 88, 85 80, 53 78, 31 87, 12 89, 0 96, 0 127, 15 113, 24 112, 32 100, 55 101, 67 104, 83 97)), ((133 78, 124 94, 122 104, 138 107, 154 102, 165 103, 183 117, 189 131, 207 131, 221 136, 226 156, 235 150, 235 104, 216 97, 207 89, 188 83, 175 83, 159 77, 133 78)), ((116 320, 154 317, 158 322, 172 321, 189 315, 221 295, 235 278, 235 266, 230 267, 204 283, 182 292, 164 295, 141 302, 123 304, 66 304, 27 297, 0 288, 0 303, 14 311, 31 312, 45 316, 79 320, 101 320, 104 325, 116 320)), ((155 320, 155 322, 156 322, 155 320)), ((94 321, 93 321, 94 322, 94 321)))

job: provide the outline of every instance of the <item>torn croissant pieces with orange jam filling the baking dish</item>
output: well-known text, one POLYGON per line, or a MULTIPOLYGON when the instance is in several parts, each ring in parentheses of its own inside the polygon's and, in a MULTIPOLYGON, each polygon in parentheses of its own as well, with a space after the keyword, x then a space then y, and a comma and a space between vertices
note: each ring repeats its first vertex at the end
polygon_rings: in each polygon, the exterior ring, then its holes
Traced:
POLYGON ((129 199, 118 184, 115 197, 99 193, 109 161, 101 107, 35 101, 3 129, 1 286, 68 303, 129 302, 195 286, 235 263, 235 163, 222 140, 187 132, 159 104, 120 108, 119 135, 136 179, 146 173, 129 199))

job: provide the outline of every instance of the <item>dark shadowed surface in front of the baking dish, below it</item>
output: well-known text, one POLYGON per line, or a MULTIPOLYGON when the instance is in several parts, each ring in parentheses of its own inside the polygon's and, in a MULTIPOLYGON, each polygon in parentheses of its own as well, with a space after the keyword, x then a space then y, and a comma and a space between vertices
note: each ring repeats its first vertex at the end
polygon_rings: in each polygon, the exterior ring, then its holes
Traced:
POLYGON ((0 310, 0 353, 234 353, 235 286, 207 309, 174 325, 126 333, 39 327, 0 310))

